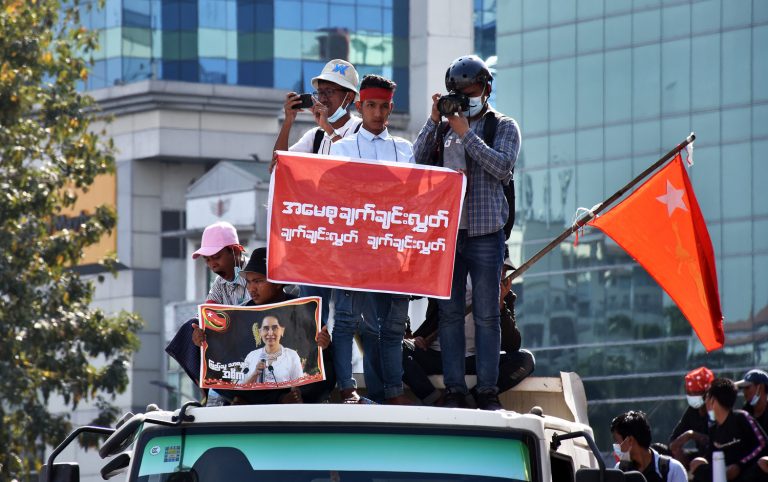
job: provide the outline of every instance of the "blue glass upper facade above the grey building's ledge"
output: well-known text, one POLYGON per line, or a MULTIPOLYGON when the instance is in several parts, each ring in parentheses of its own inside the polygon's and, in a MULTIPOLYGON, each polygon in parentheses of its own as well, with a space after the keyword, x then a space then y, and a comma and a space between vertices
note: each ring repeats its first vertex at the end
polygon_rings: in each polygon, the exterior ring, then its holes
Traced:
MULTIPOLYGON (((94 3, 84 2, 84 3, 94 3)), ((86 88, 145 79, 311 92, 332 58, 397 82, 408 106, 407 0, 106 0, 86 88)))

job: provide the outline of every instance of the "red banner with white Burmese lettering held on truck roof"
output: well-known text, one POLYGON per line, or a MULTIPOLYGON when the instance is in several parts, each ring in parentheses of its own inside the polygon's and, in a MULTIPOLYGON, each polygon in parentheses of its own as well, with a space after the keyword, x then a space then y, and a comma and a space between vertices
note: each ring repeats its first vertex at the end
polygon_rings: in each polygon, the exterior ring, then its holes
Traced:
POLYGON ((275 283, 448 298, 462 174, 278 151, 267 275, 275 283))

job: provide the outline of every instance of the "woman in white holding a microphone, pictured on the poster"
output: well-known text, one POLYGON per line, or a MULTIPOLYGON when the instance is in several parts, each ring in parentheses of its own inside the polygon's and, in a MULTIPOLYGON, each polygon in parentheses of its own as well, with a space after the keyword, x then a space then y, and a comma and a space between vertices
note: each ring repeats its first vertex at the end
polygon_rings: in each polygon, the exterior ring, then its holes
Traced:
MULTIPOLYGON (((304 376, 301 358, 296 350, 283 346, 280 342, 285 334, 285 327, 276 316, 265 316, 261 320, 256 343, 263 346, 253 350, 245 357, 246 374, 238 383, 274 383, 290 382, 304 376)), ((256 335, 256 333, 255 333, 256 335)))

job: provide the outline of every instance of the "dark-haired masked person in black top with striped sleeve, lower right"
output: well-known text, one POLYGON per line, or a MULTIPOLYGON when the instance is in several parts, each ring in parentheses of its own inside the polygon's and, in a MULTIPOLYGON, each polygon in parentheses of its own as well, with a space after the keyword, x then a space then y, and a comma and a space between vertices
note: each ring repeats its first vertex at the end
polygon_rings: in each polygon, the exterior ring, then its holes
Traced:
POLYGON ((712 452, 725 456, 726 478, 730 481, 768 480, 759 461, 768 455, 768 440, 754 418, 743 410, 734 410, 738 389, 733 380, 716 378, 707 389, 704 405, 714 423, 709 432, 709 453, 691 461, 693 480, 712 480, 712 452))

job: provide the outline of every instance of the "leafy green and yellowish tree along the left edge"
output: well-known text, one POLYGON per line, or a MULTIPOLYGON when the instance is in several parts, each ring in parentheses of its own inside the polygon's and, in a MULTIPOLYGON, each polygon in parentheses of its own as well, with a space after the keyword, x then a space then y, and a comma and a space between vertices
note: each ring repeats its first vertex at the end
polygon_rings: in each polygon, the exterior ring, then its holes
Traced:
POLYGON ((78 404, 114 415, 138 346, 140 320, 90 307, 94 285, 71 269, 115 229, 114 210, 53 227, 78 190, 114 170, 93 101, 76 90, 96 48, 77 3, 0 0, 0 480, 38 470, 78 404))

